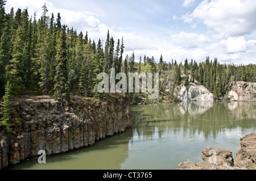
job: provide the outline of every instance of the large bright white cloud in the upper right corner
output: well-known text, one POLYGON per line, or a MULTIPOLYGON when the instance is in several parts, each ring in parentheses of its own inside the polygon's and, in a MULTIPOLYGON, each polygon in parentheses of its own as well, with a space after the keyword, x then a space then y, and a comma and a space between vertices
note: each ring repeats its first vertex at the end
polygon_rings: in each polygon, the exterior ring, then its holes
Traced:
POLYGON ((202 21, 208 28, 226 36, 244 36, 256 29, 255 0, 204 0, 181 17, 185 23, 202 21))

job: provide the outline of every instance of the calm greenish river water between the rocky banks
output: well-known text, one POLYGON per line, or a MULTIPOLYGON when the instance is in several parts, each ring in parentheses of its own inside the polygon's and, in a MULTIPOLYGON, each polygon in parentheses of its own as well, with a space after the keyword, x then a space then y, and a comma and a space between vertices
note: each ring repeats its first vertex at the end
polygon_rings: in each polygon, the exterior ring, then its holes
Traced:
POLYGON ((31 160, 10 169, 174 170, 181 162, 201 162, 213 146, 233 152, 240 138, 256 129, 256 103, 183 102, 131 107, 134 126, 88 148, 31 160))

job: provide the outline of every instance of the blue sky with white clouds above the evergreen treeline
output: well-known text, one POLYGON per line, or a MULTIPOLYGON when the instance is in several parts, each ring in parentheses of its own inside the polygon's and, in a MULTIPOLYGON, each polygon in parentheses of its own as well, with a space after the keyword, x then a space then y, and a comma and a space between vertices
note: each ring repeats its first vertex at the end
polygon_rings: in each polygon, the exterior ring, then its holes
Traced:
POLYGON ((7 0, 6 12, 27 8, 32 16, 48 15, 73 27, 96 42, 106 32, 124 39, 125 55, 154 56, 159 61, 256 63, 255 0, 7 0))

